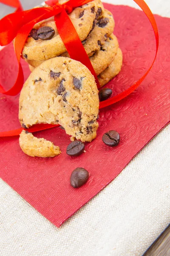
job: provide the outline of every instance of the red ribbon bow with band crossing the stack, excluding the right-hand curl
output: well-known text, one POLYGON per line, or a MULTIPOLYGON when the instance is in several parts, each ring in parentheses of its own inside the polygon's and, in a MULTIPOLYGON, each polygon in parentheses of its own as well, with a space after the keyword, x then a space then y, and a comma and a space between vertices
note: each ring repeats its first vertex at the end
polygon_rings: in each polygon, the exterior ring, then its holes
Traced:
POLYGON ((82 62, 82 64, 91 70, 91 73, 94 75, 96 83, 99 87, 99 81, 91 61, 85 52, 76 29, 68 17, 68 14, 71 13, 74 8, 82 6, 90 1, 91 0, 69 0, 67 3, 61 5, 58 3, 58 0, 48 0, 45 3, 47 3, 49 7, 34 8, 17 13, 15 12, 0 20, 0 45, 5 46, 11 43, 11 41, 15 38, 14 49, 19 65, 18 76, 14 86, 6 91, 3 89, 2 85, 0 85, 0 93, 14 96, 20 92, 24 81, 23 69, 20 64, 24 44, 31 29, 36 23, 53 16, 59 35, 61 36, 70 57, 74 60, 82 62), (68 30, 69 34, 65 33, 68 30))

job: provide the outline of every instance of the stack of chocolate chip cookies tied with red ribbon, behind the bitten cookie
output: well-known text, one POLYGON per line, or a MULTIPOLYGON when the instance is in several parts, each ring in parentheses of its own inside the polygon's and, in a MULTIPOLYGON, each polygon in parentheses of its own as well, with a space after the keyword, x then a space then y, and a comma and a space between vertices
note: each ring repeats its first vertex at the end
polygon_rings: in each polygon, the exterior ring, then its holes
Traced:
MULTIPOLYGON (((69 17, 102 87, 116 76, 122 67, 122 52, 116 36, 113 35, 113 15, 104 9, 100 0, 94 0, 74 9, 69 17)), ((23 58, 32 71, 43 61, 56 56, 69 57, 69 54, 52 17, 34 26, 23 49, 23 58)))

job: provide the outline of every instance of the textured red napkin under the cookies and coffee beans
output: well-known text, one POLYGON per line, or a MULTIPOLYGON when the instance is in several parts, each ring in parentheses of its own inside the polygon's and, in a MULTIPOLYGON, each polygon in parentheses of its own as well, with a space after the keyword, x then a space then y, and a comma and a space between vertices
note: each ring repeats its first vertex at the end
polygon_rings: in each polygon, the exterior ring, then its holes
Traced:
MULTIPOLYGON (((137 81, 150 66, 155 39, 144 13, 127 6, 105 4, 113 12, 124 61, 121 73, 107 87, 122 92, 137 81)), ((67 218, 110 183, 129 161, 170 121, 170 19, 158 15, 159 54, 152 71, 130 96, 100 111, 96 140, 85 145, 86 153, 69 157, 65 151, 69 136, 60 128, 34 135, 59 145, 62 154, 54 158, 33 158, 24 154, 18 137, 0 139, 0 177, 42 215, 59 227, 67 218), (102 143, 102 134, 114 129, 121 142, 115 148, 102 143), (70 186, 71 172, 83 167, 90 172, 88 182, 79 189, 70 186)), ((29 71, 23 62, 25 78, 29 71)), ((12 45, 0 52, 0 82, 11 87, 17 74, 12 45)), ((18 98, 1 95, 0 131, 20 128, 18 98)))

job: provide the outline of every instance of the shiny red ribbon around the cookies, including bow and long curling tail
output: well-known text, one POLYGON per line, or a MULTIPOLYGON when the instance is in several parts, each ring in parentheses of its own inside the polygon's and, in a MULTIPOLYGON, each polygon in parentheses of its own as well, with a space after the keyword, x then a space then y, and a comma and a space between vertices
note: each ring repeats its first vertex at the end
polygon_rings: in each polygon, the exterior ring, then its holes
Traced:
MULTIPOLYGON (((13 4, 14 4, 14 2, 15 3, 18 2, 17 0, 11 0, 11 1, 13 2, 13 4)), ((10 0, 3 0, 3 1, 0 0, 0 2, 6 3, 7 5, 10 5, 9 2, 11 2, 11 1, 10 0)), ((73 59, 76 59, 78 61, 81 61, 83 64, 85 64, 89 68, 89 70, 91 70, 91 72, 94 74, 94 76, 96 78, 96 74, 95 74, 94 69, 91 65, 91 62, 88 58, 88 55, 86 54, 85 49, 82 46, 82 43, 79 39, 79 36, 77 35, 77 32, 74 29, 74 26, 68 17, 68 14, 72 11, 72 9, 74 9, 78 6, 81 6, 82 4, 88 3, 88 2, 90 2, 90 0, 70 0, 64 5, 59 5, 56 2, 57 2, 56 0, 46 1, 46 3, 48 3, 48 5, 50 5, 52 7, 37 8, 37 9, 28 10, 25 12, 18 12, 17 19, 16 19, 15 14, 11 14, 11 15, 4 17, 2 20, 0 20, 0 44, 7 45, 16 36, 14 47, 15 47, 15 51, 16 51, 16 55, 17 55, 18 64, 19 64, 19 73, 18 73, 16 83, 7 92, 0 85, 1 93, 7 94, 7 95, 16 95, 22 89, 23 70, 20 65, 20 56, 21 56, 21 53, 23 50, 23 46, 24 46, 26 39, 29 35, 29 32, 31 31, 34 24, 41 20, 47 19, 48 17, 51 17, 51 16, 55 16, 55 21, 57 23, 56 25, 57 25, 57 29, 59 31, 59 35, 61 36, 61 38, 65 44, 65 47, 68 50, 70 57, 73 59), (24 17, 23 17, 23 14, 24 14, 24 17), (31 20, 30 20, 30 17, 31 17, 31 20), (11 23, 11 20, 13 21, 13 23, 11 23), (57 21, 59 21, 59 22, 57 22, 57 21), (69 30, 71 29, 73 37, 68 38, 68 35, 70 35, 70 33, 69 34, 65 33, 65 31, 67 31, 67 29, 69 29, 69 30), (74 49, 77 49, 77 51, 75 51, 74 49), (80 52, 81 52, 81 54, 80 54, 80 52), (81 58, 81 60, 80 60, 80 58, 81 58), (21 81, 22 81, 22 83, 21 83, 21 81)), ((156 25, 155 18, 153 16, 152 12, 150 11, 149 7, 147 6, 147 4, 144 2, 144 0, 134 0, 134 2, 136 2, 141 7, 141 9, 143 10, 143 12, 147 16, 147 18, 149 19, 149 21, 153 27, 153 31, 154 31, 155 39, 156 39, 156 55, 157 55, 158 47, 159 47, 159 34, 158 34, 158 28, 156 25)), ((113 103, 116 103, 116 102, 120 101, 121 99, 124 99, 126 96, 128 96, 130 93, 132 93, 134 90, 136 90, 136 88, 142 83, 142 81, 145 79, 145 77, 150 72, 151 68, 153 67, 153 64, 156 59, 156 55, 155 55, 152 65, 147 70, 147 72, 144 74, 144 76, 142 76, 141 79, 139 79, 135 84, 130 86, 124 92, 112 97, 111 99, 101 102, 99 108, 104 108, 109 105, 112 105, 113 103)), ((98 79, 96 79, 96 81, 98 81, 98 79)), ((99 88, 99 84, 98 84, 98 88, 99 88)), ((34 125, 34 127, 29 128, 28 131, 30 131, 30 132, 41 131, 41 130, 45 130, 45 129, 56 127, 56 126, 58 126, 58 125, 44 125, 44 124, 34 125)), ((23 130, 23 128, 13 130, 13 131, 1 132, 0 137, 19 135, 22 130, 23 130)))

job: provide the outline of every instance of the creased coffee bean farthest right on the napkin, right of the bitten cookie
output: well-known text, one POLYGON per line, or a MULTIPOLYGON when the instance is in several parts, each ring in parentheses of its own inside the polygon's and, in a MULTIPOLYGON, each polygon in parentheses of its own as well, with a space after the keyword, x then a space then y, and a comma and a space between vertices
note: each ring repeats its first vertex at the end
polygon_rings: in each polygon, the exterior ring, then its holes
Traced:
POLYGON ((117 146, 120 142, 120 135, 117 131, 108 131, 103 134, 102 141, 110 147, 117 146))

